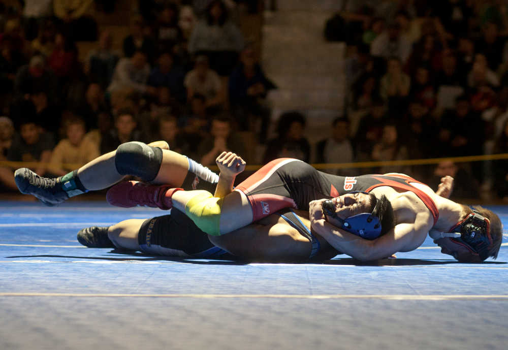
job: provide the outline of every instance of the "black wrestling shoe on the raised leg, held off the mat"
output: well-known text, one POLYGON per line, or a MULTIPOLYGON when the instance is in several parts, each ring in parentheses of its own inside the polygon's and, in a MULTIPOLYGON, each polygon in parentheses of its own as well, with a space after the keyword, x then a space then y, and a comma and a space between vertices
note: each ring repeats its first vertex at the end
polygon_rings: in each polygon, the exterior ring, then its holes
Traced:
POLYGON ((19 192, 33 195, 47 206, 55 206, 69 198, 61 188, 60 177, 49 179, 41 177, 27 168, 21 168, 14 173, 14 180, 19 192))

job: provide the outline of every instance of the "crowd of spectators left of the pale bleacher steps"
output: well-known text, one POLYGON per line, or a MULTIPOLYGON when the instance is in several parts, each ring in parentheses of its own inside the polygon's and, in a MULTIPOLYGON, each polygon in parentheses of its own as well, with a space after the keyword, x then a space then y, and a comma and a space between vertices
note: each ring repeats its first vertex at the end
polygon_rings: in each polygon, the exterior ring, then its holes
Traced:
MULTIPOLYGON (((275 85, 230 16, 257 1, 139 1, 118 49, 88 15, 115 3, 0 4, 0 161, 60 176, 123 142, 165 140, 210 165, 249 154, 242 132, 266 139, 275 85)), ((12 175, 0 166, 0 190, 16 189, 12 175)))

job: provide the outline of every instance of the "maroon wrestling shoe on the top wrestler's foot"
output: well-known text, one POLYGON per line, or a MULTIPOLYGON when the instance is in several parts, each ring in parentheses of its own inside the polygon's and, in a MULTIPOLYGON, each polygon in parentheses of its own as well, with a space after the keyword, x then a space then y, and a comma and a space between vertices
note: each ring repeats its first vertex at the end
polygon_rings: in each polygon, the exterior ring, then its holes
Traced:
POLYGON ((171 196, 176 190, 168 185, 150 185, 138 181, 123 181, 108 190, 106 200, 116 207, 132 208, 145 206, 150 208, 171 209, 171 196))

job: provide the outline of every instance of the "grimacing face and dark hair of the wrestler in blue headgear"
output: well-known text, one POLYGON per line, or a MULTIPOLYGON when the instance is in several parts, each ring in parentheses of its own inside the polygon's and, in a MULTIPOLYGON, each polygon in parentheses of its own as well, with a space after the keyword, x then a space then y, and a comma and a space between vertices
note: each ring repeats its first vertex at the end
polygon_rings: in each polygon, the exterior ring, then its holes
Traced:
MULTIPOLYGON (((392 205, 388 198, 384 195, 380 198, 376 198, 372 193, 353 192, 335 197, 331 200, 331 203, 334 207, 334 215, 325 214, 325 217, 330 224, 339 228, 344 228, 341 220, 352 218, 355 215, 368 214, 365 215, 365 220, 367 220, 369 223, 371 222, 370 217, 375 217, 375 220, 372 221, 372 224, 376 226, 377 224, 380 224, 380 233, 379 228, 377 228, 377 231, 375 228, 372 228, 373 231, 371 233, 366 232, 365 237, 371 236, 369 239, 384 235, 395 226, 395 217, 392 205), (374 232, 377 233, 374 234, 374 232)), ((360 215, 360 217, 362 217, 362 215, 360 215)), ((367 225, 367 227, 372 226, 372 224, 367 225)), ((355 228, 352 229, 355 230, 355 228)), ((346 231, 352 232, 351 230, 347 229, 346 231)))

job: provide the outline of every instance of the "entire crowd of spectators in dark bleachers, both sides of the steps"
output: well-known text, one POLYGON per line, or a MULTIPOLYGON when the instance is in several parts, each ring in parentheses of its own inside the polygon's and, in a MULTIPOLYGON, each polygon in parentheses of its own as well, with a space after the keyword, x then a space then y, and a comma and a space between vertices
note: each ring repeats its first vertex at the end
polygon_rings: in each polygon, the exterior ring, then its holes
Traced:
MULTIPOLYGON (((270 138, 266 97, 276 86, 230 16, 239 3, 252 12, 259 7, 253 0, 139 1, 120 50, 112 33, 86 15, 90 6, 114 11, 115 1, 25 0, 18 10, 0 4, 0 160, 47 162, 35 170, 58 176, 133 140, 166 140, 205 165, 223 150, 247 157, 249 139, 265 146, 260 162, 508 152, 504 2, 344 0, 325 37, 346 43, 350 93, 344 113, 315 145, 297 111, 282 113, 270 138), (83 56, 79 41, 95 45, 83 56)), ((452 175, 460 196, 485 188, 508 199, 507 165, 443 162, 432 171, 362 172, 406 172, 430 183, 452 175)), ((15 189, 11 169, 0 167, 0 184, 15 189)))

